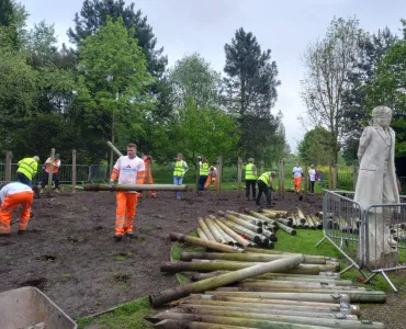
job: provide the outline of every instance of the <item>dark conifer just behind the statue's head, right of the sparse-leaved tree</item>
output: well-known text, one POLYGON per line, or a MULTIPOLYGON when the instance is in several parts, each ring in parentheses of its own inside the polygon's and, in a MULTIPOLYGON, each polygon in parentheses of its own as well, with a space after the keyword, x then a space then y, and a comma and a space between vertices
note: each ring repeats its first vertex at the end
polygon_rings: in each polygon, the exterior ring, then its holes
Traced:
POLYGON ((349 89, 343 92, 342 100, 342 152, 347 161, 357 159, 362 127, 366 124, 368 112, 372 110, 365 104, 368 86, 376 80, 377 64, 395 41, 387 27, 376 34, 366 34, 359 41, 361 56, 356 69, 348 76, 349 89))

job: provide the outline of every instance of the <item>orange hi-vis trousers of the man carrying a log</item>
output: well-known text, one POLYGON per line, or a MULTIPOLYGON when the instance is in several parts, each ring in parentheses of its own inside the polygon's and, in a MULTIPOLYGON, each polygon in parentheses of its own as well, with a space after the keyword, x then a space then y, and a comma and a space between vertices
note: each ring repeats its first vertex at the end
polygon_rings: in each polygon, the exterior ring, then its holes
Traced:
POLYGON ((122 236, 133 231, 137 198, 138 193, 116 192, 115 235, 122 236))

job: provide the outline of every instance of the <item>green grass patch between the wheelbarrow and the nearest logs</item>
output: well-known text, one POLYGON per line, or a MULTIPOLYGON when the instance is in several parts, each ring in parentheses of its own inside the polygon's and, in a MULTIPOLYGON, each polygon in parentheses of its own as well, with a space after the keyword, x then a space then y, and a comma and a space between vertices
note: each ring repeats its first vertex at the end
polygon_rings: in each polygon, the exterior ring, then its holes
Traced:
POLYGON ((119 305, 114 311, 97 318, 79 318, 76 320, 79 329, 86 329, 91 324, 99 328, 109 329, 150 329, 154 328, 144 317, 153 314, 148 297, 142 297, 129 303, 119 305))

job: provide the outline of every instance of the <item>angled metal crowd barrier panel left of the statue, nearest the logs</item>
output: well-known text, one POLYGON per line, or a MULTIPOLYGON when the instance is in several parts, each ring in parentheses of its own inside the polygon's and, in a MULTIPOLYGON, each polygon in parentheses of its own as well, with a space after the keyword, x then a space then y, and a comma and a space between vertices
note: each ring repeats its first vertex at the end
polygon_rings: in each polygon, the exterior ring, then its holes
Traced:
MULTIPOLYGON (((358 202, 342 195, 345 191, 325 191, 323 198, 323 230, 325 240, 330 241, 350 262, 340 274, 356 268, 364 277, 364 237, 365 223, 363 211, 358 202)), ((350 193, 351 194, 351 193, 350 193)))

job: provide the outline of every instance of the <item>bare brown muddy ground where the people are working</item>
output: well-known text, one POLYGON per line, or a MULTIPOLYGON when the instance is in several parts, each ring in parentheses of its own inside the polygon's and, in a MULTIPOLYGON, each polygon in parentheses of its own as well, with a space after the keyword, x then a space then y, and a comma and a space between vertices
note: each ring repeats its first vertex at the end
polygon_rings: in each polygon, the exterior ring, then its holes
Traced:
MULTIPOLYGON (((297 206, 305 213, 322 211, 322 197, 300 202, 297 195, 287 193, 284 201, 275 201, 275 209, 297 206)), ((36 286, 77 318, 173 287, 176 276, 159 271, 170 257, 168 234, 189 232, 198 217, 218 209, 244 207, 256 208, 244 195, 237 198, 236 192, 222 192, 219 197, 212 192, 203 196, 188 192, 181 201, 174 193, 160 192, 158 198, 139 200, 137 239, 114 242, 114 193, 65 191, 35 198, 35 216, 26 234, 18 236, 14 225, 11 237, 0 237, 0 292, 36 286)))

